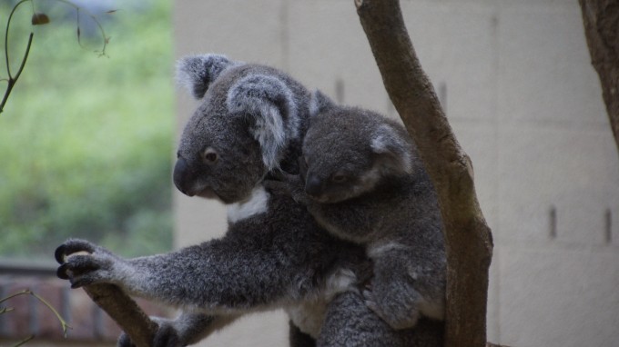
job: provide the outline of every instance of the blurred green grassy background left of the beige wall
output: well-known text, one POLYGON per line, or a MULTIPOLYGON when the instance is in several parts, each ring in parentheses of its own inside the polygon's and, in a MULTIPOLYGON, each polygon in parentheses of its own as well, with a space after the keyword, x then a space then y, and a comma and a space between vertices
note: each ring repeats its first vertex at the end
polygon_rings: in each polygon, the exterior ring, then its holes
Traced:
MULTIPOLYGON (((0 2, 4 26, 15 2, 0 2)), ((107 2, 109 3, 109 2, 107 2)), ((34 31, 24 73, 0 114, 0 258, 53 259, 68 237, 135 256, 171 248, 174 136, 171 2, 117 2, 86 12, 36 0, 11 23, 15 74, 34 31)), ((1 38, 4 45, 4 35, 1 38)), ((0 78, 6 78, 4 57, 0 78)), ((0 84, 4 94, 5 82, 0 84)))

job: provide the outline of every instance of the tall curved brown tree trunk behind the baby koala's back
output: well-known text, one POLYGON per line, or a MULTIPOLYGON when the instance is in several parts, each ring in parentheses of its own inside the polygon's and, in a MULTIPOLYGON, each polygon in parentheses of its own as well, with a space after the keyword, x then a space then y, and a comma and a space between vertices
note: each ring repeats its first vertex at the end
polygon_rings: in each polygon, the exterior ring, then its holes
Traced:
POLYGON ((399 1, 355 0, 355 5, 383 84, 439 194, 448 262, 445 344, 485 346, 492 233, 477 201, 471 161, 421 68, 399 1))

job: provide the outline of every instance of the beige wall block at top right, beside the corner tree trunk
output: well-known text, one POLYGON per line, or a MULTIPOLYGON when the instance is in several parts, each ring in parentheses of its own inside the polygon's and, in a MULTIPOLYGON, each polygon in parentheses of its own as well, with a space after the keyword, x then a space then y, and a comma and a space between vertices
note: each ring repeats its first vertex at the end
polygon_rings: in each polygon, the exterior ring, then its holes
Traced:
POLYGON ((606 124, 577 2, 505 6, 499 15, 499 115, 606 124))

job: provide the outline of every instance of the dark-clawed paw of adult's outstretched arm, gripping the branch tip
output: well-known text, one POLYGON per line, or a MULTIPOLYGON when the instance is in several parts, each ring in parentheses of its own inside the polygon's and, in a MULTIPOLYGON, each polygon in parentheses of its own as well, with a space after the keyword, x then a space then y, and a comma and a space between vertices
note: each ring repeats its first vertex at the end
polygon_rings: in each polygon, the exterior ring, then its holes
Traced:
POLYGON ((79 239, 67 240, 56 248, 54 255, 60 263, 56 275, 69 280, 71 288, 112 282, 113 265, 120 261, 105 248, 79 239))

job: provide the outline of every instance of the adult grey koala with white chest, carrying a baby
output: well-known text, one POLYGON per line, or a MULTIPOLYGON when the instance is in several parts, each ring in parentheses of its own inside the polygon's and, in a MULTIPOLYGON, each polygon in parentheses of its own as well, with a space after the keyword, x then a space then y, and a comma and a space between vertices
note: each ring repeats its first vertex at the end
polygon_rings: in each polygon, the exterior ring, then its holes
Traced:
MULTIPOLYGON (((357 291, 369 277, 364 250, 330 236, 304 206, 263 187, 269 172, 298 170, 309 92, 276 69, 222 55, 183 59, 179 79, 201 104, 180 139, 174 182, 189 196, 226 203, 228 232, 134 259, 68 240, 56 250, 58 276, 72 287, 115 283, 181 307, 176 320, 157 319, 155 346, 195 343, 243 313, 274 308, 289 313, 293 346, 441 344, 441 323, 392 331, 357 291)), ((121 336, 119 345, 131 342, 121 336)))

